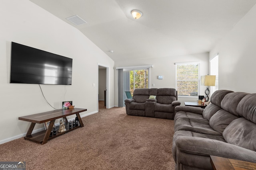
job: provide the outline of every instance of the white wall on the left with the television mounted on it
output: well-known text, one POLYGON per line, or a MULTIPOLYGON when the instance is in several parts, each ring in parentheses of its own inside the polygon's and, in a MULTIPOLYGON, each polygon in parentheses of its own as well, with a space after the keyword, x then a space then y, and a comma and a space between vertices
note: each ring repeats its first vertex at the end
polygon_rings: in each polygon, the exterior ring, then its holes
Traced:
MULTIPOLYGON (((109 107, 114 106, 114 61, 80 31, 28 0, 1 1, 0 16, 0 143, 26 133, 30 123, 18 117, 53 110, 37 84, 9 83, 12 41, 73 59, 71 86, 41 85, 56 109, 65 99, 72 100, 75 107, 86 108, 82 116, 97 112, 97 85, 92 84, 98 82, 99 61, 111 68, 108 101, 109 107)), ((36 125, 35 129, 42 127, 36 125)))

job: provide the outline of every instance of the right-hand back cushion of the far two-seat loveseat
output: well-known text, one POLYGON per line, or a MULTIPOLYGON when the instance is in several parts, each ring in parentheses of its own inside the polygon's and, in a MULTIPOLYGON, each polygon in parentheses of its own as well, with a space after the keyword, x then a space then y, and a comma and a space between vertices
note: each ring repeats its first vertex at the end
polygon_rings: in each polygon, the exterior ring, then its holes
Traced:
POLYGON ((176 90, 174 88, 159 88, 156 99, 160 104, 172 104, 176 100, 176 90))

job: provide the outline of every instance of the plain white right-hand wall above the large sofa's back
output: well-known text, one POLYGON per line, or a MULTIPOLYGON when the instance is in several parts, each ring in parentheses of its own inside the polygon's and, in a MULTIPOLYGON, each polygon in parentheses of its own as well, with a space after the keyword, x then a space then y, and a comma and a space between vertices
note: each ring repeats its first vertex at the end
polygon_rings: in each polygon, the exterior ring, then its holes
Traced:
POLYGON ((256 93, 256 6, 210 51, 219 53, 219 89, 256 93))

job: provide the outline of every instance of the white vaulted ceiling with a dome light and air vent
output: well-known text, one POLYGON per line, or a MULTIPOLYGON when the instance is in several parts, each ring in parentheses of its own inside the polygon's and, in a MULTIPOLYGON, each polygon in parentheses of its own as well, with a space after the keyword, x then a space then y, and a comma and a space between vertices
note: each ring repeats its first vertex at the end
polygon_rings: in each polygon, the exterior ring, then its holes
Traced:
POLYGON ((256 0, 30 1, 79 29, 114 61, 209 52, 256 4, 256 0), (134 9, 143 16, 132 18, 134 9), (66 20, 74 15, 87 23, 66 20))

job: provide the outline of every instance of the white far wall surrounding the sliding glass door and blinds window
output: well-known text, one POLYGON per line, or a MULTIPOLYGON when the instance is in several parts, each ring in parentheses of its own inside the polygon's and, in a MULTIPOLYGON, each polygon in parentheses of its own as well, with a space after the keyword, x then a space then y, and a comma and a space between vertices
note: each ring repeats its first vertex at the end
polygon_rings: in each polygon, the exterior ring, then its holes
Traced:
MULTIPOLYGON (((150 88, 175 88, 175 65, 174 63, 180 62, 200 62, 200 75, 209 74, 209 53, 201 53, 194 55, 184 55, 175 57, 160 57, 154 59, 141 59, 141 60, 127 60, 115 62, 116 67, 123 66, 141 66, 141 65, 153 65, 150 68, 150 88), (162 80, 158 80, 158 76, 163 76, 162 80), (152 87, 155 84, 155 87, 152 87)), ((115 88, 115 106, 118 106, 118 84, 117 84, 117 71, 114 70, 114 88, 115 88)), ((200 86, 200 95, 204 95, 206 86, 200 86)), ((178 98, 178 100, 184 105, 184 102, 196 102, 198 98, 178 98)))

